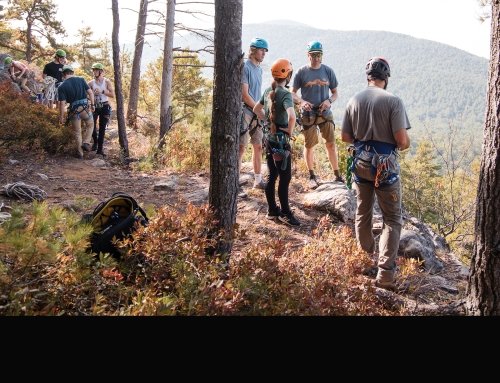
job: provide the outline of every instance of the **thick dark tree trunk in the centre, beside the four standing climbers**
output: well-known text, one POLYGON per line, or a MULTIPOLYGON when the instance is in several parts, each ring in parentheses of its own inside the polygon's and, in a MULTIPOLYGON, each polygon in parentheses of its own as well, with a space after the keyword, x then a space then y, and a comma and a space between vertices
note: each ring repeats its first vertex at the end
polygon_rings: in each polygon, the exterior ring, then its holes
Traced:
POLYGON ((217 252, 233 246, 238 193, 238 147, 241 113, 242 0, 215 0, 215 70, 210 138, 209 204, 224 232, 217 252))

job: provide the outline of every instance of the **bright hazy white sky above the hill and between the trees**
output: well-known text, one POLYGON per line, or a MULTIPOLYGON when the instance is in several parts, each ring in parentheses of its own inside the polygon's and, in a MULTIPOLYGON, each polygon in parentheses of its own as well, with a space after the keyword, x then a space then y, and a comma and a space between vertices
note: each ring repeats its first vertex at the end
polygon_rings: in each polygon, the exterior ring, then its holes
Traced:
MULTIPOLYGON (((90 26, 94 37, 111 37, 110 0, 85 0, 84 7, 74 1, 54 0, 59 16, 72 39, 79 28, 90 26)), ((158 1, 157 3, 163 3, 158 1)), ((178 9, 193 9, 196 5, 178 9)), ((120 39, 133 41, 139 0, 120 0, 120 39)), ((166 7, 165 7, 166 8, 166 7)), ((213 12, 213 6, 205 6, 213 12)), ((478 0, 243 0, 243 23, 293 20, 320 29, 382 30, 434 40, 481 57, 490 53, 490 20, 481 23, 478 0)), ((194 20, 176 16, 189 26, 207 26, 208 18, 194 20), (203 21, 205 20, 205 21, 203 21)), ((265 36, 264 36, 265 37, 265 36)), ((244 45, 246 42, 243 42, 244 45)))

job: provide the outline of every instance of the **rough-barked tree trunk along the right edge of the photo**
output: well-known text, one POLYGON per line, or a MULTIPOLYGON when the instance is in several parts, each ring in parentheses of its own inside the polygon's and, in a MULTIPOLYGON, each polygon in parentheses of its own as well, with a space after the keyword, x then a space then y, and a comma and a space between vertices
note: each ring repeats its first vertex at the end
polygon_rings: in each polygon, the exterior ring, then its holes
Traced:
POLYGON ((468 315, 500 315, 500 0, 492 1, 491 58, 468 315))

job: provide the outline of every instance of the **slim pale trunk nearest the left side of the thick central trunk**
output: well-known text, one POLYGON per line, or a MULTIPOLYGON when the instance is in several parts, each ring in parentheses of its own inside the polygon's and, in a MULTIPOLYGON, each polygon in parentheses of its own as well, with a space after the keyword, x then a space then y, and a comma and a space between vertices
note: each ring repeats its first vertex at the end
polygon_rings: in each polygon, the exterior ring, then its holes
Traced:
POLYGON ((165 144, 165 136, 172 125, 172 73, 174 70, 174 23, 175 0, 167 0, 167 21, 165 23, 165 41, 163 46, 163 71, 161 75, 160 95, 160 143, 165 144))

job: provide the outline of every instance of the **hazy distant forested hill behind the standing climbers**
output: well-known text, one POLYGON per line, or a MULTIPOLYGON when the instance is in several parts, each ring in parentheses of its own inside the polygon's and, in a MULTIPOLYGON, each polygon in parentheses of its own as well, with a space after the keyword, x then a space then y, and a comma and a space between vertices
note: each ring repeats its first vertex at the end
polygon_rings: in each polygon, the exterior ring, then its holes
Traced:
MULTIPOLYGON (((243 25, 245 55, 252 37, 265 38, 270 45, 262 64, 266 86, 271 81, 270 66, 275 59, 286 57, 298 69, 307 63, 307 43, 321 41, 323 63, 334 69, 339 81, 334 115, 340 124, 349 98, 366 86, 366 62, 372 56, 383 56, 391 65, 388 90, 403 99, 414 128, 412 135, 422 135, 424 126, 433 134, 441 134, 454 124, 461 126, 463 132, 479 133, 474 146, 480 148, 488 76, 485 58, 398 33, 315 29, 288 21, 243 25)), ((203 42, 192 36, 179 37, 175 46, 198 48, 203 42)), ((210 55, 202 58, 213 63, 210 55)))

